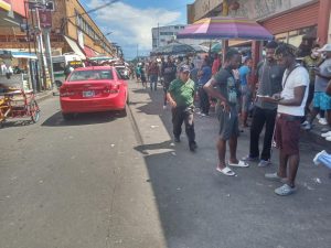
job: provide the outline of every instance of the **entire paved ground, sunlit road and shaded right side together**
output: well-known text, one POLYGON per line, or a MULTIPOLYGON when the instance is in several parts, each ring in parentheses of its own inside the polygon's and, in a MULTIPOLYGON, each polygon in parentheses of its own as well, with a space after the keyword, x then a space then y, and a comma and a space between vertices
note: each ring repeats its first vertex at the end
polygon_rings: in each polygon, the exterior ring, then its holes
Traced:
MULTIPOLYGON (((199 149, 172 143, 162 90, 130 82, 130 110, 64 122, 56 97, 38 125, 0 130, 0 248, 329 248, 331 179, 302 141, 298 193, 279 197, 252 164, 215 171, 217 121, 196 116, 199 149)), ((248 150, 247 130, 238 157, 248 150)))

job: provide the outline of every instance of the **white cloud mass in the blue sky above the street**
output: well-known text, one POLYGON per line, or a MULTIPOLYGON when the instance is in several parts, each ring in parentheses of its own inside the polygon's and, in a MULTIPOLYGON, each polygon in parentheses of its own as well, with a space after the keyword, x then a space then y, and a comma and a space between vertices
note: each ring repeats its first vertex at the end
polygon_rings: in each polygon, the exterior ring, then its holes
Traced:
MULTIPOLYGON (((104 3, 102 0, 92 0, 88 8, 93 9, 104 3)), ((109 40, 115 40, 124 50, 129 45, 137 47, 137 44, 139 48, 151 50, 151 29, 158 23, 174 24, 180 15, 177 11, 160 8, 140 9, 119 1, 98 10, 95 19, 99 26, 104 28, 104 32, 113 32, 109 40)))

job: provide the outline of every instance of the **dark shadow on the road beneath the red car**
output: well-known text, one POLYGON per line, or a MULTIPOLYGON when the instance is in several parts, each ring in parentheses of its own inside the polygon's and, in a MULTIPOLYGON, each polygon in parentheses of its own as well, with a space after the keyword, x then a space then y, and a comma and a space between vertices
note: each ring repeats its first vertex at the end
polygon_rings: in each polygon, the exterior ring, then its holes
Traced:
POLYGON ((61 111, 54 114, 46 119, 43 127, 65 127, 65 126, 84 126, 84 125, 97 125, 114 121, 118 118, 125 118, 126 112, 121 111, 106 111, 106 112, 88 112, 77 114, 70 120, 64 120, 61 111))

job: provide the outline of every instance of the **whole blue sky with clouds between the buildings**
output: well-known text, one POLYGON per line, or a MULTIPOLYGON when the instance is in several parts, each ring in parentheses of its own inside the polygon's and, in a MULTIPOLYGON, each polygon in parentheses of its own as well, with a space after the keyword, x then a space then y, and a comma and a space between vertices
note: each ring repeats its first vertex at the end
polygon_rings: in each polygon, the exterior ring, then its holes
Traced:
MULTIPOLYGON (((111 0, 81 0, 86 10, 111 0)), ((110 42, 122 47, 126 60, 148 55, 151 51, 151 29, 159 25, 186 24, 186 4, 194 0, 118 0, 92 13, 93 20, 110 42)))

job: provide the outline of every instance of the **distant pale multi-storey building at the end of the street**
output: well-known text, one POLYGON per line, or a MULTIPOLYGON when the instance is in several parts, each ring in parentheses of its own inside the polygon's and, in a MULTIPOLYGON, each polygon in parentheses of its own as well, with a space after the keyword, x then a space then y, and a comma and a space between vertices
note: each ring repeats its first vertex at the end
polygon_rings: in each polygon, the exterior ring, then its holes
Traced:
POLYGON ((167 25, 152 28, 152 48, 164 46, 175 40, 179 31, 183 30, 185 25, 167 25))

